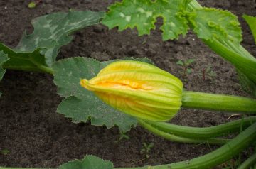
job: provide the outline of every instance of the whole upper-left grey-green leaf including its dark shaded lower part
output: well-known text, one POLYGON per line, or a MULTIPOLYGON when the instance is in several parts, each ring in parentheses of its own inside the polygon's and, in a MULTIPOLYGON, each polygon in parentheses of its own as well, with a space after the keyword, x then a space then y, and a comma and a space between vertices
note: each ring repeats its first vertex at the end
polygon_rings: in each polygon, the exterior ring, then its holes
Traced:
POLYGON ((26 35, 25 32, 16 48, 11 49, 0 43, 0 50, 10 58, 4 67, 50 72, 48 67, 55 62, 60 47, 73 39, 70 34, 99 23, 103 16, 103 12, 70 11, 35 18, 32 21, 33 33, 26 35))

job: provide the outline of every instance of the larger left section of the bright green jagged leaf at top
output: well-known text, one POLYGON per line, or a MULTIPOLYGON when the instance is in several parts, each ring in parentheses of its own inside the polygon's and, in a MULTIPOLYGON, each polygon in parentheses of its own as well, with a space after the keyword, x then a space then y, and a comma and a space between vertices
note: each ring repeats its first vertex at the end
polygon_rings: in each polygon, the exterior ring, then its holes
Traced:
POLYGON ((149 34, 155 29, 156 18, 164 20, 161 31, 163 40, 176 39, 186 35, 187 20, 184 17, 189 0, 123 0, 109 7, 102 23, 109 28, 119 27, 119 31, 137 27, 139 36, 149 34))

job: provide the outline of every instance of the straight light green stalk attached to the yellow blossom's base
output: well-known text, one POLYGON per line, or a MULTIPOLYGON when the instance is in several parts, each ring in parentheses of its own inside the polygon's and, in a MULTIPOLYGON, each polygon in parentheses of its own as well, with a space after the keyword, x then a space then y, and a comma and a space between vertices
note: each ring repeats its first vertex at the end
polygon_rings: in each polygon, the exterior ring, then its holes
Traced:
POLYGON ((182 107, 256 114, 256 99, 183 91, 182 107))

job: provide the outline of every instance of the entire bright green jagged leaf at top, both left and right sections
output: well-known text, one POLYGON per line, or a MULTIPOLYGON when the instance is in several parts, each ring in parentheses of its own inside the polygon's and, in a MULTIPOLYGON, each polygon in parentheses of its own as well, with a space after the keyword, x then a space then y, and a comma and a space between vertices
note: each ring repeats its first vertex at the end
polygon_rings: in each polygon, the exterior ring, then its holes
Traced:
POLYGON ((242 40, 238 18, 228 11, 217 9, 197 9, 188 11, 189 0, 123 0, 109 7, 102 23, 119 31, 137 27, 139 36, 149 34, 154 29, 157 17, 164 19, 161 31, 163 40, 177 39, 186 35, 191 23, 199 38, 204 40, 230 39, 235 43, 242 40))

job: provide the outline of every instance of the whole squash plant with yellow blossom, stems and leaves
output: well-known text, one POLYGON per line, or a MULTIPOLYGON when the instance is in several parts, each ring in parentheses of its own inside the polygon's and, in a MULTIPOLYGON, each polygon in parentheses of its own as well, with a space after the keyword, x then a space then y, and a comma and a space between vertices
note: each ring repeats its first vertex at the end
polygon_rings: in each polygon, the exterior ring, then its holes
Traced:
MULTIPOLYGON (((238 155, 248 146, 255 146, 255 116, 206 128, 164 122, 171 119, 180 107, 256 114, 256 100, 253 99, 256 97, 256 59, 240 45, 242 32, 236 16, 228 11, 202 7, 196 0, 123 0, 109 9, 106 14, 70 11, 36 18, 32 21, 33 33, 24 33, 16 48, 11 49, 0 43, 0 80, 6 69, 46 72, 54 76, 58 94, 65 97, 58 105, 58 113, 75 123, 90 120, 96 126, 111 128, 117 125, 120 131, 128 131, 138 123, 171 141, 221 145, 198 158, 139 167, 141 169, 212 168, 238 155), (136 27, 141 36, 155 28, 158 17, 164 19, 161 26, 163 40, 185 36, 192 29, 215 53, 236 67, 243 89, 252 98, 186 91, 178 78, 155 67, 146 58, 99 62, 77 57, 55 61, 61 46, 72 40, 70 34, 80 28, 100 23, 103 19, 103 24, 109 28, 118 26, 119 31, 136 27), (154 92, 152 89, 160 90, 154 92), (166 91, 168 96, 164 94, 166 91), (235 138, 219 138, 237 132, 240 133, 235 138)), ((256 18, 244 18, 255 37, 256 18)), ((255 160, 256 156, 252 155, 240 168, 250 168, 255 160)), ((83 160, 71 161, 60 165, 60 168, 114 167, 110 161, 85 156, 83 160)))

